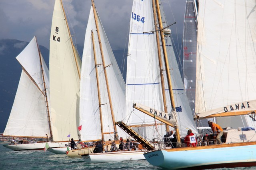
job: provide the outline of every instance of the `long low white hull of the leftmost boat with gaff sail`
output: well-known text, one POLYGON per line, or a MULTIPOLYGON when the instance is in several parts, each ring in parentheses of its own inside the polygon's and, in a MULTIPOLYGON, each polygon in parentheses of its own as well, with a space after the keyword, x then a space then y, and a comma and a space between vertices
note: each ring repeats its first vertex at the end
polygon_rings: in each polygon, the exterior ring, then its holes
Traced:
POLYGON ((18 150, 43 150, 45 147, 44 143, 28 143, 28 144, 16 144, 16 145, 4 145, 4 147, 8 149, 12 149, 15 151, 18 150))

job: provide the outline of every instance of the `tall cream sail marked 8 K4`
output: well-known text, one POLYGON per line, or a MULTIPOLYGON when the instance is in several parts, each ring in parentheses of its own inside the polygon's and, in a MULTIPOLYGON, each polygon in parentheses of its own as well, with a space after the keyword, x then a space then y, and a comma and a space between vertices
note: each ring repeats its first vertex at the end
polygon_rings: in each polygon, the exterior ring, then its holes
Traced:
MULTIPOLYGON (((54 141, 78 140, 80 68, 77 68, 71 41, 62 2, 56 0, 50 35, 50 99, 54 141)), ((79 57, 76 59, 79 60, 79 57)))

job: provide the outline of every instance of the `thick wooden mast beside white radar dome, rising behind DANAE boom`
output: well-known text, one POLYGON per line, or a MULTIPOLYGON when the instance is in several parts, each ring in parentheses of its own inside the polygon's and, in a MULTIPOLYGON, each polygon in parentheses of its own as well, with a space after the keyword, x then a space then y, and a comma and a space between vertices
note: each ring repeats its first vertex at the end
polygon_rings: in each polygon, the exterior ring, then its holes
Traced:
MULTIPOLYGON (((156 11, 157 11, 158 22, 159 22, 159 31, 160 31, 160 36, 161 36, 162 49, 163 49, 163 53, 164 53, 164 64, 165 64, 166 74, 167 74, 169 95, 171 98, 172 110, 175 111, 176 109, 175 109, 174 97, 173 97, 173 92, 172 92, 170 68, 169 68, 169 64, 168 64, 168 56, 167 56, 167 52, 166 52, 166 44, 165 44, 165 39, 164 39, 164 34, 163 34, 163 24, 162 24, 162 18, 161 18, 161 14, 160 14, 160 7, 159 7, 158 0, 156 0, 156 11)), ((179 132, 179 129, 177 126, 175 126, 175 131, 176 131, 177 142, 180 143, 180 132, 179 132)))

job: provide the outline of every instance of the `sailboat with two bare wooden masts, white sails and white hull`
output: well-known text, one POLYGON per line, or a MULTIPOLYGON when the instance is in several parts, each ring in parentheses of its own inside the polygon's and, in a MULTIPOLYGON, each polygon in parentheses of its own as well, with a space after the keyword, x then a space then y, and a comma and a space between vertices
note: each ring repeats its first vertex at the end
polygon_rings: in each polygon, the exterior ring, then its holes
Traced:
MULTIPOLYGON (((117 141, 118 136, 128 136, 115 124, 125 118, 125 88, 122 74, 92 0, 82 59, 82 141, 101 141, 104 145, 108 139, 117 141)), ((82 158, 87 163, 145 159, 141 150, 88 153, 82 154, 82 158)))

